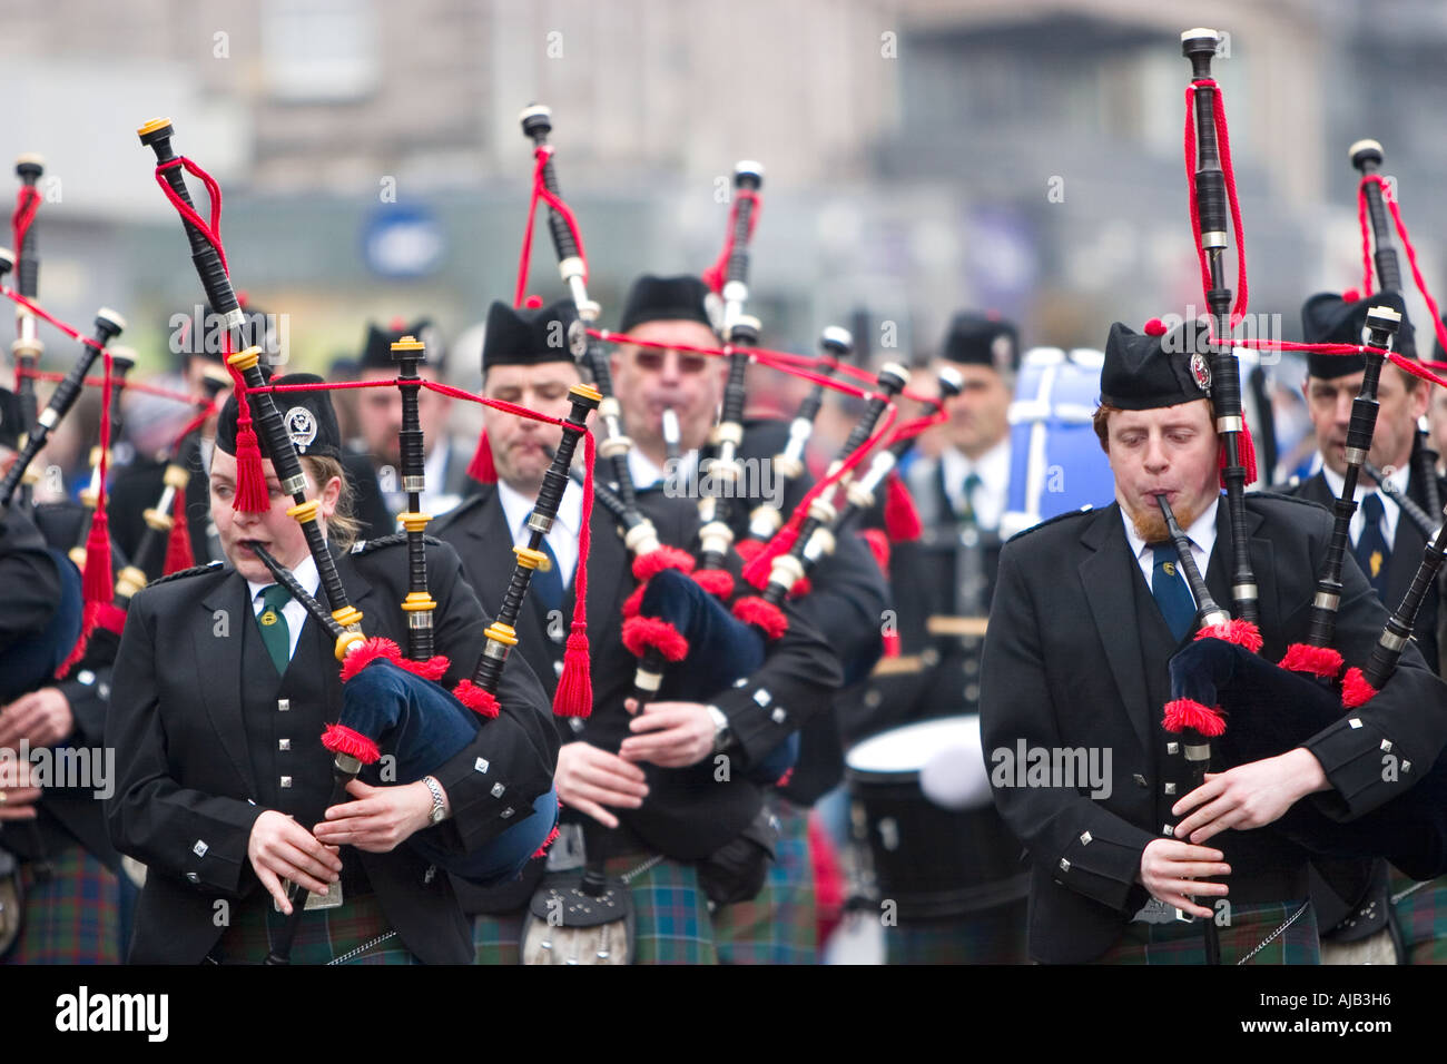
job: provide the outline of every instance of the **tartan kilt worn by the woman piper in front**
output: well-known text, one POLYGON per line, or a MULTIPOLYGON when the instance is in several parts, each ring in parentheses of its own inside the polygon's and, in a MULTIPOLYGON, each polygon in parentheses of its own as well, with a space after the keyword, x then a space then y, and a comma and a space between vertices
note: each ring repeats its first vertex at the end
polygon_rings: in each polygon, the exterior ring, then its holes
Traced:
MULTIPOLYGON (((232 912, 232 924, 211 950, 211 957, 221 964, 260 964, 271 951, 271 935, 281 929, 287 918, 276 912, 272 896, 265 890, 233 903, 232 912)), ((336 909, 313 909, 301 915, 297 937, 291 941, 291 963, 328 964, 391 931, 375 893, 357 898, 343 893, 336 909)), ((396 934, 343 963, 421 964, 396 934)))

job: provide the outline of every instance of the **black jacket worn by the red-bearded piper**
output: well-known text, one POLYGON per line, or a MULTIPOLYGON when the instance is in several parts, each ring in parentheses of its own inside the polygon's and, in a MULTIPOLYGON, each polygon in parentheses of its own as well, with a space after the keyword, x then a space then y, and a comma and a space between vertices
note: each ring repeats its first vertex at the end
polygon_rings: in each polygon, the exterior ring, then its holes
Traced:
MULTIPOLYGON (((1247 523, 1262 654, 1276 662, 1307 636, 1331 520, 1298 499, 1255 494, 1247 495, 1247 523)), ((1207 583, 1229 602, 1224 502, 1217 528, 1207 583)), ((1347 663, 1365 663, 1386 611, 1351 559, 1343 585, 1334 646, 1347 663)), ((1175 822, 1176 796, 1163 785, 1181 759, 1166 756, 1169 737, 1160 727, 1175 644, 1159 612, 1150 615, 1150 604, 1116 504, 1046 521, 1010 540, 1001 554, 983 666, 987 763, 993 751, 1017 743, 1113 753, 1106 798, 1079 788, 996 786, 996 805, 1030 851, 1030 954, 1040 961, 1088 961, 1119 938, 1146 900, 1136 883, 1140 854, 1163 824, 1175 822), (1163 644, 1155 630, 1165 633, 1163 644), (1152 646, 1147 657, 1143 647, 1152 646)), ((1343 715, 1302 744, 1331 785, 1302 801, 1338 819, 1395 796, 1398 785, 1382 779, 1383 740, 1420 764, 1437 756, 1447 741, 1447 686, 1408 647, 1392 682, 1350 717, 1360 727, 1343 715)), ((1226 832, 1211 845, 1224 850, 1237 898, 1253 880, 1305 873, 1305 851, 1270 827, 1226 832)))

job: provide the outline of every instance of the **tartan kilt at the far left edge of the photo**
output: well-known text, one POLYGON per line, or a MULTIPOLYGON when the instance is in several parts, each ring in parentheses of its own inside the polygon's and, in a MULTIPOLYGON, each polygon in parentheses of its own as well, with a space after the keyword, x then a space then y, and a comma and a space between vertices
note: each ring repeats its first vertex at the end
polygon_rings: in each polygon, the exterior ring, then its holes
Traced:
POLYGON ((84 847, 51 854, 48 880, 22 861, 25 925, 4 964, 120 964, 120 882, 84 847))

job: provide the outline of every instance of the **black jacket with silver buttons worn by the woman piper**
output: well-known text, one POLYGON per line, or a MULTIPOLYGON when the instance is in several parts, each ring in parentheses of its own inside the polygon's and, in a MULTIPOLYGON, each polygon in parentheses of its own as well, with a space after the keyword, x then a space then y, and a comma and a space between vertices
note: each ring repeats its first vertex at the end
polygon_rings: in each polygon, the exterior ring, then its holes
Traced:
MULTIPOLYGON (((337 556, 347 595, 365 615, 363 631, 394 640, 405 640, 398 602, 407 594, 407 560, 399 544, 401 537, 391 537, 337 556)), ((428 550, 428 588, 437 601, 437 650, 451 659, 443 683, 451 688, 472 675, 489 618, 444 544, 428 550)), ((246 580, 229 567, 190 570, 132 599, 106 718, 120 766, 106 808, 111 837, 122 853, 149 867, 132 961, 190 964, 210 951, 221 935, 213 921, 216 899, 262 890, 246 844, 265 809, 292 814, 308 827, 320 819, 331 757, 314 737, 336 719, 341 699, 330 644, 308 618, 278 677, 260 644, 246 580), (294 737, 288 753, 278 751, 272 732, 294 737)), ((441 832, 453 848, 472 850, 531 815, 532 802, 553 783, 557 737, 550 708, 521 659, 508 663, 498 693, 502 715, 433 773, 453 816, 428 831, 441 832)), ((353 851, 343 854, 346 860, 353 851)), ((446 876, 428 882, 427 861, 405 845, 389 854, 356 851, 353 860, 408 950, 428 963, 472 958, 467 922, 446 876)))

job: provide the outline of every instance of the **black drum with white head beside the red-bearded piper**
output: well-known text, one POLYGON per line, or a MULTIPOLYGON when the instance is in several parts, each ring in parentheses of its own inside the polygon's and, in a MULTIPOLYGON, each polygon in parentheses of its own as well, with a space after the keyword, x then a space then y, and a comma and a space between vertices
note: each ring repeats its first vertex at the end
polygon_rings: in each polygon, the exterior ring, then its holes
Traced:
POLYGON ((1024 898, 1023 847, 996 812, 980 718, 881 732, 845 756, 854 841, 874 895, 901 921, 941 919, 1024 898))

